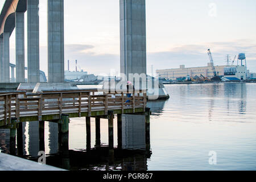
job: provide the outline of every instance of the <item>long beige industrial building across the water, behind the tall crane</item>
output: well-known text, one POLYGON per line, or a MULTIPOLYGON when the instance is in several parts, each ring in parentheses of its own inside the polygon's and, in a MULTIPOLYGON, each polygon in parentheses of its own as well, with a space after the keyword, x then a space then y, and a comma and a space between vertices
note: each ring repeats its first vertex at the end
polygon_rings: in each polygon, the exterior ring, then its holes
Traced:
MULTIPOLYGON (((224 68, 226 65, 215 66, 217 75, 224 76, 224 68)), ((191 67, 185 68, 185 65, 180 65, 180 68, 175 69, 159 69, 156 70, 156 73, 159 75, 160 78, 166 78, 171 80, 176 80, 179 77, 187 77, 187 75, 191 77, 201 76, 204 77, 213 77, 213 71, 211 63, 208 63, 207 67, 191 67)))

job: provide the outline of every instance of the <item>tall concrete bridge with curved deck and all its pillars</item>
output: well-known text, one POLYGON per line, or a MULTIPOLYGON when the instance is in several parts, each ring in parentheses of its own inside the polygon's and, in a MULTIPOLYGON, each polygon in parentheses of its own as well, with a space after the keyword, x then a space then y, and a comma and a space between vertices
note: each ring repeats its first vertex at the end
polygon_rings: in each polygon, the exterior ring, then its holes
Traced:
MULTIPOLYGON (((64 82, 64 0, 48 1, 48 82, 64 82)), ((121 73, 146 74, 145 0, 119 0, 121 73)), ((28 82, 40 81, 39 0, 6 0, 0 14, 0 82, 10 82, 10 36, 16 28, 16 82, 24 82, 27 11, 28 82)), ((79 27, 74 28, 79 30, 79 27)))

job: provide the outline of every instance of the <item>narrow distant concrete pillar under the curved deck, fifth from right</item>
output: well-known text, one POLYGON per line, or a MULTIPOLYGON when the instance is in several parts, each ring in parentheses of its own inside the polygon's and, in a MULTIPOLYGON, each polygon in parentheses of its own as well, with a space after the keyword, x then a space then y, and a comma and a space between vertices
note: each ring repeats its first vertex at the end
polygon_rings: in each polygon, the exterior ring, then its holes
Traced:
POLYGON ((3 32, 3 82, 10 82, 10 32, 3 32))

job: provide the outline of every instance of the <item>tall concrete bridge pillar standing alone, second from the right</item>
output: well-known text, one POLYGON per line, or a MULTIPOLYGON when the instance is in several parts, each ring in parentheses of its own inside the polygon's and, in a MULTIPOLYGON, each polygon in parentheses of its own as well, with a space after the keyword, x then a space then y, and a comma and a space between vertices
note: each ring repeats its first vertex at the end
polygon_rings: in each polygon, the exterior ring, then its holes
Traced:
POLYGON ((48 82, 64 82, 64 0, 48 0, 48 82))

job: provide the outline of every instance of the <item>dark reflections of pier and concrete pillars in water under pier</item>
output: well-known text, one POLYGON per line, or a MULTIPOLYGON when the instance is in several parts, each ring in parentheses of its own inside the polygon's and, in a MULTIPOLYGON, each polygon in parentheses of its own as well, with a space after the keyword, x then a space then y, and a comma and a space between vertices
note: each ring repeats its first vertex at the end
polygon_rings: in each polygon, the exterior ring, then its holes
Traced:
MULTIPOLYGON (((86 148, 80 151, 70 150, 68 143, 59 143, 57 123, 46 122, 47 164, 70 170, 146 171, 147 159, 150 158, 151 151, 146 147, 145 121, 145 115, 122 115, 122 148, 115 147, 113 155, 110 155, 108 146, 102 145, 90 150, 86 150, 86 148)), ((22 124, 23 157, 37 161, 39 122, 22 124)), ((10 132, 9 130, 0 131, 1 150, 9 154, 10 132)), ((150 142, 147 143, 147 146, 150 146, 150 142)))

